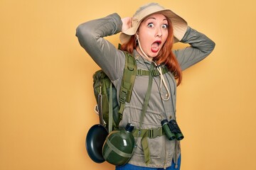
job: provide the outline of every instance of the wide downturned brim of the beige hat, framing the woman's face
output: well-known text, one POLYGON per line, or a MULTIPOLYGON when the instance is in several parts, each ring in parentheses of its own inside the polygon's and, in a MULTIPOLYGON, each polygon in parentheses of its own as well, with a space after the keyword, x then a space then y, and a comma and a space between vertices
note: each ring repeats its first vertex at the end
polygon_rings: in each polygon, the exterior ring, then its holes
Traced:
MULTIPOLYGON (((174 28, 174 42, 178 42, 183 38, 188 28, 188 23, 183 18, 181 18, 180 16, 178 16, 176 13, 174 13, 169 9, 154 11, 154 13, 161 13, 171 20, 172 26, 174 28)), ((148 13, 144 18, 146 18, 151 14, 153 13, 148 13)), ((131 38, 131 35, 134 35, 137 32, 139 25, 140 23, 142 23, 144 18, 142 18, 135 26, 132 26, 127 30, 124 30, 120 34, 119 39, 122 43, 128 42, 129 39, 131 38)))

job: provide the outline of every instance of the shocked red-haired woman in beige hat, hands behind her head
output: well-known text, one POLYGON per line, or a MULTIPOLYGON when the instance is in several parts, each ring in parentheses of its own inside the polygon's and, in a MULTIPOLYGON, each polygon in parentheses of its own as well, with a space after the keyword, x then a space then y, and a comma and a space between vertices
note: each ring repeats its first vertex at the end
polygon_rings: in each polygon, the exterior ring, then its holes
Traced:
POLYGON ((137 76, 130 103, 125 103, 119 127, 132 123, 145 136, 137 135, 137 147, 128 164, 116 169, 180 169, 179 140, 169 140, 162 130, 162 120, 176 120, 176 86, 181 84, 181 71, 203 60, 213 51, 215 43, 196 30, 173 11, 159 4, 146 4, 132 18, 120 18, 113 13, 105 18, 82 23, 76 33, 80 45, 112 80, 119 95, 125 55, 132 54, 137 69, 159 72, 151 83, 149 103, 140 127, 140 115, 148 90, 149 76, 137 76), (120 34, 121 50, 104 39, 120 34), (189 43, 190 47, 172 51, 174 42, 189 43), (169 72, 162 72, 164 67, 169 72), (149 135, 149 131, 158 135, 149 135), (142 142, 146 139, 146 144, 142 142))

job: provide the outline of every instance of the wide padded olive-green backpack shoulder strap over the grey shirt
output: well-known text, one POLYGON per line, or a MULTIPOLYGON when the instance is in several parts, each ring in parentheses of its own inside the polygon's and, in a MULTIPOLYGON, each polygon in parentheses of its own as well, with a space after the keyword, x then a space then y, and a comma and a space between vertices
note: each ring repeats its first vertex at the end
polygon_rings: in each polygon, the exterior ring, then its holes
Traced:
POLYGON ((124 111, 125 102, 131 101, 132 89, 134 86, 135 77, 137 75, 137 64, 136 60, 129 52, 124 52, 125 55, 125 65, 124 65, 124 75, 122 78, 122 85, 119 94, 119 120, 122 120, 122 113, 124 111))

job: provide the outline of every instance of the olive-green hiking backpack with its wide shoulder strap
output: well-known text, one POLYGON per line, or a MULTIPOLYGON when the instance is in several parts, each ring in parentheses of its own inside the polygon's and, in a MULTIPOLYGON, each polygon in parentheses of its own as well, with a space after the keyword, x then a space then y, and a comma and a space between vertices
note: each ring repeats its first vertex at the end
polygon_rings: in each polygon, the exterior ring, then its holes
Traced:
POLYGON ((134 57, 128 52, 124 52, 124 54, 124 75, 119 98, 117 98, 117 89, 102 69, 93 74, 93 89, 97 101, 95 111, 100 116, 100 124, 105 126, 108 132, 118 129, 119 122, 122 120, 124 104, 131 100, 132 88, 137 75, 137 65, 134 57), (118 105, 118 100, 120 105, 118 105))

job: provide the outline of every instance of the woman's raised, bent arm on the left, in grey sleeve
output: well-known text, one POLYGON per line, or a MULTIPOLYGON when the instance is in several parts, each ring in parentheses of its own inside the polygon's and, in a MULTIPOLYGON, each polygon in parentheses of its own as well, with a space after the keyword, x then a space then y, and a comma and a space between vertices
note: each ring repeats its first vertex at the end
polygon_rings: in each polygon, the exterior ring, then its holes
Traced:
POLYGON ((121 30, 122 21, 117 13, 82 23, 76 30, 80 45, 112 80, 120 77, 122 73, 124 54, 104 37, 121 30))

